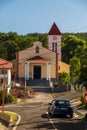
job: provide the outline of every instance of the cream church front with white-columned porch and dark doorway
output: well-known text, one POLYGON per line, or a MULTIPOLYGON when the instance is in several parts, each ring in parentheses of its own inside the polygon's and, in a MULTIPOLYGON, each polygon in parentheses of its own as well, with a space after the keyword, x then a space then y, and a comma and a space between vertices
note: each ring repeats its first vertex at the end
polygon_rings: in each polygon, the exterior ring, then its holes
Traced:
POLYGON ((55 78, 56 53, 36 41, 33 46, 17 53, 18 77, 29 79, 55 78))

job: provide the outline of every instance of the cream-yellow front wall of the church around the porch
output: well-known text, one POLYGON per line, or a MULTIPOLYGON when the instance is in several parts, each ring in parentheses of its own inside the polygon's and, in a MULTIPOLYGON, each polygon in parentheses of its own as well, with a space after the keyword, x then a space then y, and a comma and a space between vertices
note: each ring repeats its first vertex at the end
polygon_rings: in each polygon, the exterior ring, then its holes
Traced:
MULTIPOLYGON (((19 63, 21 63, 21 67, 19 67, 19 72, 18 72, 19 77, 25 76, 25 61, 28 61, 30 58, 33 58, 37 55, 48 60, 47 62, 51 64, 51 78, 55 78, 56 53, 49 49, 42 47, 42 43, 39 41, 34 42, 32 47, 19 52, 19 63), (39 53, 36 53, 36 46, 39 46, 39 53)), ((42 63, 38 63, 38 62, 32 63, 32 61, 29 61, 29 63, 30 63, 30 73, 32 73, 33 65, 40 64, 42 66, 42 78, 46 78, 46 75, 47 75, 46 63, 43 63, 43 62, 42 63)), ((20 66, 20 64, 19 64, 19 66, 20 66)))

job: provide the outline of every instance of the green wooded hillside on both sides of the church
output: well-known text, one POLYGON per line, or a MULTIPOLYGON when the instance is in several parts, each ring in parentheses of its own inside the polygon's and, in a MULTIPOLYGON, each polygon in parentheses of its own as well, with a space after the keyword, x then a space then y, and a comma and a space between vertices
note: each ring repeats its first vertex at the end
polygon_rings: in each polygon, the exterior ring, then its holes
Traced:
MULTIPOLYGON (((0 58, 13 60, 16 52, 32 46, 40 41, 48 47, 47 34, 29 33, 18 35, 16 32, 0 33, 0 58)), ((71 81, 87 80, 87 33, 62 34, 62 60, 71 65, 71 81)))

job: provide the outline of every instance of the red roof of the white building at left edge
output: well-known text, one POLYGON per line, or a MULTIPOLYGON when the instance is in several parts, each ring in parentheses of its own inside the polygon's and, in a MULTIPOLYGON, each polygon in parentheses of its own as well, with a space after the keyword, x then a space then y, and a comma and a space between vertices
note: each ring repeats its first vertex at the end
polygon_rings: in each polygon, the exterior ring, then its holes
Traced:
POLYGON ((12 63, 0 58, 0 69, 10 69, 12 67, 12 63))

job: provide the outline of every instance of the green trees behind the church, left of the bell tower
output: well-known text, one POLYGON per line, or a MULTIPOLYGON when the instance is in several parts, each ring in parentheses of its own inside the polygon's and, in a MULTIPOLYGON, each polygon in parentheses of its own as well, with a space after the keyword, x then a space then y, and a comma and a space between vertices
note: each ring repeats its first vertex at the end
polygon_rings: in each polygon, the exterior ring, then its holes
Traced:
POLYGON ((16 58, 16 52, 32 46, 35 41, 40 41, 44 47, 47 47, 47 34, 0 33, 0 58, 13 60, 16 58))

